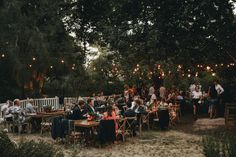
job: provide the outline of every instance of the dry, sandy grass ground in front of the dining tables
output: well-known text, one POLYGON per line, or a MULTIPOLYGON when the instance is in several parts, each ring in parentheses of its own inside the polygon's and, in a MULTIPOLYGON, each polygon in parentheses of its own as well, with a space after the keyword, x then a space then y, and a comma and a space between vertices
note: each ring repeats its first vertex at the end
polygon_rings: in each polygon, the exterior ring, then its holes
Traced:
POLYGON ((125 142, 111 144, 103 148, 82 147, 81 145, 63 145, 53 141, 49 135, 10 134, 12 140, 44 140, 62 149, 65 156, 77 157, 203 157, 201 140, 204 135, 227 133, 223 118, 199 118, 193 121, 191 116, 181 118, 176 126, 168 131, 143 131, 137 137, 129 137, 125 142))

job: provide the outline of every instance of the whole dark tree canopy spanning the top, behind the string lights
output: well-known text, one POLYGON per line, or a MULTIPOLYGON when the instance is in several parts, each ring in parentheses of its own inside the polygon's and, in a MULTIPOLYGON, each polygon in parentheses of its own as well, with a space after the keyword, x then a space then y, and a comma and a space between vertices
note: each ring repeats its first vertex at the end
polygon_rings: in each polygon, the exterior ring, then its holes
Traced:
POLYGON ((148 79, 156 69, 164 76, 160 64, 166 71, 177 65, 197 71, 199 65, 235 63, 234 3, 1 0, 0 95, 65 96, 69 89, 148 79), (101 56, 86 67, 88 45, 101 56))

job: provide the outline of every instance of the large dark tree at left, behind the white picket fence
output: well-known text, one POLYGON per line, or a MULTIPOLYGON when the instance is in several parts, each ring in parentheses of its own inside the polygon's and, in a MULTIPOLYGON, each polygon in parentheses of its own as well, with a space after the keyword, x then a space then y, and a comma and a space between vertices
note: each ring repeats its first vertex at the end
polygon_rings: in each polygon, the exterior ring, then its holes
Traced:
POLYGON ((76 68, 81 66, 79 46, 67 34, 61 20, 63 3, 62 0, 1 3, 0 52, 5 55, 0 58, 2 99, 40 97, 45 77, 60 80, 70 72, 72 64, 76 68))

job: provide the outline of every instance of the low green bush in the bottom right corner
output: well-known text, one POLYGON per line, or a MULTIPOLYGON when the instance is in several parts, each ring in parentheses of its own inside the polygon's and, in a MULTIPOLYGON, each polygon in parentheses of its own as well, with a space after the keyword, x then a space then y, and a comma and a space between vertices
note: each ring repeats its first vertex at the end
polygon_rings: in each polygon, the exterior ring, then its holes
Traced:
POLYGON ((236 138, 226 137, 224 139, 215 137, 203 138, 203 151, 206 157, 235 157, 236 138))

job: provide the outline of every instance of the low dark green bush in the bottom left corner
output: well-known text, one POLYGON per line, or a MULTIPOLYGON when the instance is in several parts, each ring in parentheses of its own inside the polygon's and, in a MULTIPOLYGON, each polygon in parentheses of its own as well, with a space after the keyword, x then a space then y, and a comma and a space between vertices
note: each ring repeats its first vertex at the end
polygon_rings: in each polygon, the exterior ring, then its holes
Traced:
POLYGON ((1 157, 63 157, 61 151, 56 150, 51 144, 40 141, 20 142, 17 146, 5 133, 0 133, 1 157))

